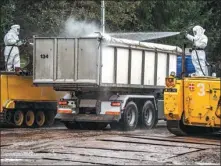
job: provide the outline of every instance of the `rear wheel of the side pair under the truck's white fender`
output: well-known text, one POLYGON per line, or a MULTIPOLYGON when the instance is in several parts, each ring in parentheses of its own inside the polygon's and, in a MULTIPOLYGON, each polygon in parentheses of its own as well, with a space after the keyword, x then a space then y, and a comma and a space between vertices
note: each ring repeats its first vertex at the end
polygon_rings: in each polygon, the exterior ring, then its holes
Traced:
POLYGON ((133 131, 136 129, 138 123, 138 108, 137 105, 130 101, 127 103, 122 119, 120 122, 121 128, 125 131, 133 131))

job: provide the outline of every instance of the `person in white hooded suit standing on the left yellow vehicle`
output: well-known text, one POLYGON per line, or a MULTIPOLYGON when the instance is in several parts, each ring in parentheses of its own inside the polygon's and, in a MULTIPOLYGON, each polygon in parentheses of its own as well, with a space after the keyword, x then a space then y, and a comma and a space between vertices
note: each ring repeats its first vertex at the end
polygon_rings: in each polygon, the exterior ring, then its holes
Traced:
POLYGON ((19 40, 19 25, 12 25, 11 29, 4 37, 5 43, 5 63, 7 71, 14 71, 16 67, 20 68, 20 55, 18 46, 22 45, 23 42, 19 40))

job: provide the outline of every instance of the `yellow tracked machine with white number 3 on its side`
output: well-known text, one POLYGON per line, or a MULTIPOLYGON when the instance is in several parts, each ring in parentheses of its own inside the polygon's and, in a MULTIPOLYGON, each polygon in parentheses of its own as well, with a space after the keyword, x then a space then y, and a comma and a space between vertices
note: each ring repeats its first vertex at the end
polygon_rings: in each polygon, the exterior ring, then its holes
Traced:
POLYGON ((166 78, 164 114, 171 133, 182 136, 218 131, 220 110, 219 78, 166 78))

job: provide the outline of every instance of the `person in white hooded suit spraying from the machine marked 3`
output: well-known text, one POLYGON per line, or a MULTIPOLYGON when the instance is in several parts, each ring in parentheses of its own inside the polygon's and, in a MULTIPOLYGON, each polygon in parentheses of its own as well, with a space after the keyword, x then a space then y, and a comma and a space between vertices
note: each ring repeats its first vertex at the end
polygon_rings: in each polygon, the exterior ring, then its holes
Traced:
POLYGON ((204 35, 204 32, 205 30, 197 25, 193 28, 194 36, 186 33, 186 38, 193 42, 192 63, 196 70, 196 76, 208 76, 206 54, 204 51, 208 38, 204 35))

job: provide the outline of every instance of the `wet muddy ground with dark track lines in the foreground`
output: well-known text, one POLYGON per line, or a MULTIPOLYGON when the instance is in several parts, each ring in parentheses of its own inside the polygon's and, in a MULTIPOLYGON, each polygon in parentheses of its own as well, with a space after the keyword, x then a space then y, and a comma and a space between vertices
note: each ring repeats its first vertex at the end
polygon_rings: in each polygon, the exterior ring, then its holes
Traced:
POLYGON ((220 165, 220 134, 176 137, 164 121, 133 132, 1 128, 1 165, 220 165))

